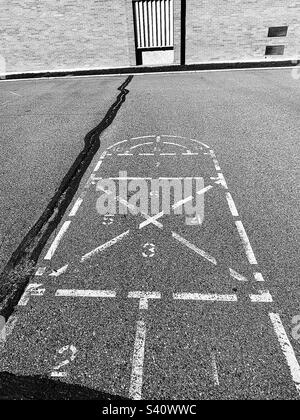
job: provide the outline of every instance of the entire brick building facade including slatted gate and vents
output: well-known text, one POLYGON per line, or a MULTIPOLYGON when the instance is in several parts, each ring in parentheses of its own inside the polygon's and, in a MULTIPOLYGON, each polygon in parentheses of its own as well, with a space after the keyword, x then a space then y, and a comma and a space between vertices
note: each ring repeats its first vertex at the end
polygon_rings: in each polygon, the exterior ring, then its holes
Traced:
POLYGON ((0 0, 5 71, 299 59, 299 0, 0 0))

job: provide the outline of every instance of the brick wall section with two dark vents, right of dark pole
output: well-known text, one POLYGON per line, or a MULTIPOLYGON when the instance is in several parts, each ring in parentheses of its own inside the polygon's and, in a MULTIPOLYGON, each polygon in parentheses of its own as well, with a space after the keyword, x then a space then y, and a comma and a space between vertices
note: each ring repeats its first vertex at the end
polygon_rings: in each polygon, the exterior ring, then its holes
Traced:
POLYGON ((264 60, 266 45, 286 45, 280 58, 300 56, 299 0, 186 2, 187 63, 264 60), (268 27, 284 25, 289 26, 286 38, 268 38, 268 27))

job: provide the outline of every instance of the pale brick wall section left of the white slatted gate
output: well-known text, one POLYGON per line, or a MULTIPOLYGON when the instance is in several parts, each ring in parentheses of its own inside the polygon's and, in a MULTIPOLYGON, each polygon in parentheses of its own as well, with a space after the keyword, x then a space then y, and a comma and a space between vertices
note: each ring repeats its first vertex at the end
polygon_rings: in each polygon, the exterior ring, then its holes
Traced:
POLYGON ((133 64, 130 6, 129 0, 0 0, 6 71, 133 64))

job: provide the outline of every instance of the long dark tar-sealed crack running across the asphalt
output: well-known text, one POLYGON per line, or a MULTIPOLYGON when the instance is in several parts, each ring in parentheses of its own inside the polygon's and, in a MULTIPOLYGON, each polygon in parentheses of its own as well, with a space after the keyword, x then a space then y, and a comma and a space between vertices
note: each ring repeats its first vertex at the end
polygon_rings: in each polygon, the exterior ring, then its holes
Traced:
POLYGON ((82 177, 100 148, 100 135, 112 124, 129 93, 129 76, 118 88, 116 101, 111 105, 102 121, 84 139, 85 146, 63 178, 45 211, 29 230, 13 252, 0 274, 0 314, 6 319, 13 313, 27 284, 33 276, 34 267, 48 239, 58 227, 72 202, 82 177))

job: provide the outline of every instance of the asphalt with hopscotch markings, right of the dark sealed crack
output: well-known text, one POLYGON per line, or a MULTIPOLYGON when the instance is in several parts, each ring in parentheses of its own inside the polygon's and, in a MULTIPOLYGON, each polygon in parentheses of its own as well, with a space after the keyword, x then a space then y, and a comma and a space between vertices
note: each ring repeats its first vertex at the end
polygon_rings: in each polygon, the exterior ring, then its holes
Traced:
MULTIPOLYGON (((61 83, 87 83, 94 110, 97 89, 113 102, 122 83, 86 80, 61 83)), ((136 400, 299 399, 299 81, 207 72, 127 89, 8 321, 0 371, 136 400), (143 181, 150 201, 151 181, 187 179, 192 220, 99 214, 103 180, 143 181)), ((111 190, 129 210, 132 192, 111 190)))

